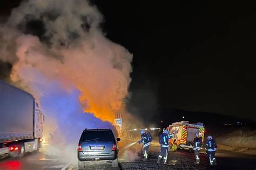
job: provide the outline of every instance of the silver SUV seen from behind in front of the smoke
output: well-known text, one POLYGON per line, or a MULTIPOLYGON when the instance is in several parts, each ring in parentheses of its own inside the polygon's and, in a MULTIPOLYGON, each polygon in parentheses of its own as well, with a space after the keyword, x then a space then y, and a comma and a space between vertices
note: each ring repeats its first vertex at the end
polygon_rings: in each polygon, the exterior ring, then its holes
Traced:
POLYGON ((86 161, 112 160, 112 166, 118 167, 118 146, 110 129, 85 129, 77 148, 78 168, 84 169, 86 161))

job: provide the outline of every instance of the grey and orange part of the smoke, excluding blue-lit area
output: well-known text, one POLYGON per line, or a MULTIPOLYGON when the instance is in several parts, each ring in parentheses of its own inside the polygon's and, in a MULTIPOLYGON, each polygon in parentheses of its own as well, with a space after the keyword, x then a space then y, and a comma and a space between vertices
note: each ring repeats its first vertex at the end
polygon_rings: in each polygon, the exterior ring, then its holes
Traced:
POLYGON ((102 19, 84 0, 22 2, 1 29, 0 56, 14 64, 11 79, 31 86, 37 70, 77 87, 85 111, 112 120, 124 111, 132 55, 104 37, 102 19))

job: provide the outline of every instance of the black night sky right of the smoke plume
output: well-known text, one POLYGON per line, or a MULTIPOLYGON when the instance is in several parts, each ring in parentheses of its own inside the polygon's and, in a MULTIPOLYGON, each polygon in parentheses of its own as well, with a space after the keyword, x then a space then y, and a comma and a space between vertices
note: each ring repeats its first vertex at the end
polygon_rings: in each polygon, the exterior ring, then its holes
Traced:
MULTIPOLYGON (((19 1, 4 2, 9 1, 2 2, 2 15, 19 1)), ((253 4, 100 0, 92 4, 103 13, 107 38, 133 53, 130 111, 146 116, 144 111, 179 108, 256 121, 253 4)))

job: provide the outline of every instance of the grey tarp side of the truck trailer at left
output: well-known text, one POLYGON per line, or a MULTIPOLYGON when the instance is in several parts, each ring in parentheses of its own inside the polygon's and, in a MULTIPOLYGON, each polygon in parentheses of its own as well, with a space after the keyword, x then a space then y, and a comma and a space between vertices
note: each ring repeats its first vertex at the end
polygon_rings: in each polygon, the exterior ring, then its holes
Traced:
POLYGON ((0 80, 0 142, 33 138, 34 98, 0 80))

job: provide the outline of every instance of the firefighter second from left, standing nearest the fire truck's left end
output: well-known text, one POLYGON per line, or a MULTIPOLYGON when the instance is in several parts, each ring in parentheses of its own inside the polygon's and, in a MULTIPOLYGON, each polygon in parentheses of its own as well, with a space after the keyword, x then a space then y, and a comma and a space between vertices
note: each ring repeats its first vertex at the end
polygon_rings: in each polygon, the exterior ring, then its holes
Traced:
POLYGON ((161 159, 164 159, 164 164, 167 162, 167 155, 169 150, 169 139, 172 139, 172 134, 169 131, 164 130, 159 136, 160 154, 157 159, 157 164, 160 164, 161 159))

